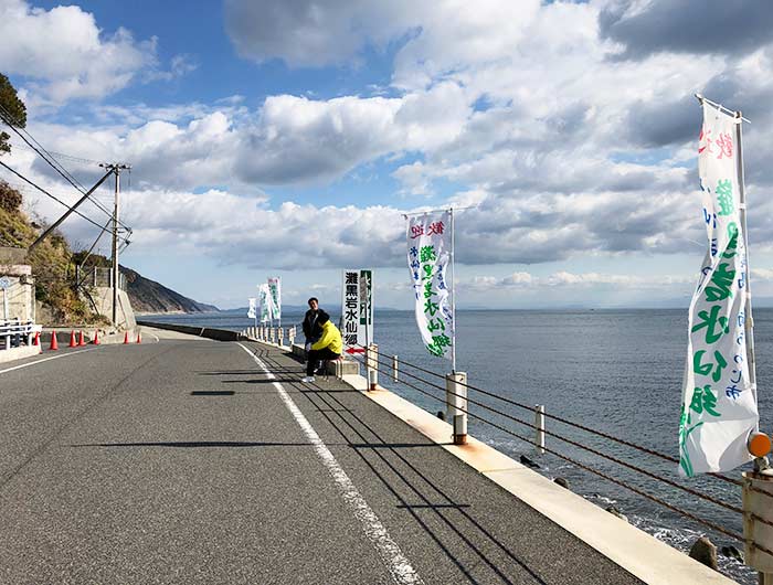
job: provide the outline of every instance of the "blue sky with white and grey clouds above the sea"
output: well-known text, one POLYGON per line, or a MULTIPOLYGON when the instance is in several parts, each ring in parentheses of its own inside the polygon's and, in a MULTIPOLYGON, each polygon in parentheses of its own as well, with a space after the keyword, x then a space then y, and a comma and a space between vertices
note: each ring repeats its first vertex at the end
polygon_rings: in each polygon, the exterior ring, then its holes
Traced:
MULTIPOLYGON (((459 308, 687 309, 707 247, 701 93, 751 120, 752 287, 773 302, 765 0, 180 7, 0 0, 28 131, 87 187, 98 162, 131 166, 121 264, 148 278, 235 308, 280 276, 285 304, 335 307, 341 270, 372 268, 377 307, 407 309, 403 213, 454 206, 459 308)), ((78 199, 13 145, 3 162, 78 199)), ((29 213, 63 212, 21 190, 29 213)), ((62 228, 80 248, 98 233, 62 228)))

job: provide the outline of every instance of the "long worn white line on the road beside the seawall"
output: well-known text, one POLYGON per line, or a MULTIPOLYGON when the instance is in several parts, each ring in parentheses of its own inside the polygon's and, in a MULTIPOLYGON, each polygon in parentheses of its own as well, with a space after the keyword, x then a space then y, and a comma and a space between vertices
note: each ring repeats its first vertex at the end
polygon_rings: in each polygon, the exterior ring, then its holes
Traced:
MULTIPOLYGON (((241 347, 252 357, 253 360, 255 360, 255 363, 257 363, 257 365, 265 372, 269 380, 276 379, 274 374, 271 373, 268 368, 266 368, 266 365, 260 360, 260 358, 257 358, 257 355, 241 343, 239 343, 239 347, 241 347)), ((319 438, 319 435, 317 435, 317 432, 306 419, 304 413, 300 412, 300 408, 296 406, 293 398, 289 397, 289 394, 287 394, 279 382, 274 382, 274 387, 276 387, 278 391, 279 397, 282 397, 285 406, 287 406, 287 410, 295 417, 296 422, 306 435, 306 438, 308 438, 309 443, 314 445, 317 455, 322 460, 322 464, 325 464, 325 467, 327 467, 336 486, 341 491, 343 501, 354 513, 354 518, 357 518, 362 524, 362 530, 366 533, 366 536, 368 536, 382 561, 389 567, 389 572, 392 574, 394 582, 399 583, 400 585, 423 584, 424 582, 422 581, 422 577, 411 566, 411 563, 400 550, 400 546, 398 546, 398 544, 391 539, 386 532, 386 528, 381 523, 381 520, 379 520, 379 517, 375 515, 364 498, 362 498, 360 492, 357 491, 354 483, 352 483, 347 472, 332 456, 330 449, 327 448, 327 445, 325 445, 322 439, 319 438)))

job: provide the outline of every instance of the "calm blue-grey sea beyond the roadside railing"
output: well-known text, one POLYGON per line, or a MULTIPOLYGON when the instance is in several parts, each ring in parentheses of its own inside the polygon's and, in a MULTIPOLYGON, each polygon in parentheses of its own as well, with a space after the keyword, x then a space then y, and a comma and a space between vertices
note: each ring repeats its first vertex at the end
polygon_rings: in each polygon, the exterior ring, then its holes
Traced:
MULTIPOLYGON (((328 312, 336 322, 336 310, 328 312)), ((144 319, 232 330, 253 325, 245 311, 241 310, 148 316, 144 319)), ((284 311, 283 327, 296 325, 300 331, 301 321, 301 310, 284 311)), ((677 435, 687 351, 686 309, 458 310, 456 336, 456 369, 467 373, 470 385, 523 406, 544 405, 548 414, 678 458, 677 435)), ((431 413, 443 411, 444 391, 435 385, 444 386, 443 374, 451 371, 451 363, 427 353, 421 342, 413 311, 377 310, 372 339, 385 362, 384 371, 379 374, 380 384, 431 413), (392 382, 386 363, 392 355, 399 357, 402 379, 421 390, 392 382)), ((773 415, 773 398, 769 392, 773 385, 773 309, 754 310, 754 339, 760 417, 762 430, 770 434, 773 415)), ((533 423, 533 412, 530 410, 509 405, 476 391, 469 391, 469 398, 509 417, 533 423)), ((548 436, 547 447, 576 462, 552 454, 538 455, 529 443, 533 429, 480 405, 470 404, 469 412, 507 429, 501 430, 470 416, 469 434, 517 460, 521 455, 529 457, 540 466, 538 472, 550 479, 565 479, 574 492, 603 508, 614 507, 631 523, 671 546, 688 551, 699 536, 708 535, 720 549, 735 546, 743 552, 742 542, 708 529, 576 464, 739 534, 743 533, 741 514, 558 437, 548 436)), ((547 419, 547 428, 658 477, 741 506, 740 487, 711 477, 680 478, 676 464, 550 418, 547 419)), ((728 476, 738 479, 744 469, 739 468, 728 476)), ((739 583, 756 583, 756 573, 733 559, 720 555, 720 566, 726 575, 739 583)))

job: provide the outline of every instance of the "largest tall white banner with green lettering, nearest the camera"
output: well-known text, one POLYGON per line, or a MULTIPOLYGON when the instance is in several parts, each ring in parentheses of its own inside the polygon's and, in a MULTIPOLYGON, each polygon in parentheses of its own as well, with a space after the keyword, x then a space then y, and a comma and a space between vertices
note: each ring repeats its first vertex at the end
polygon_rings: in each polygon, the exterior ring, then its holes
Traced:
POLYGON ((698 167, 708 251, 692 296, 679 472, 728 471, 752 459, 746 438, 759 424, 746 360, 746 249, 741 233, 738 145, 733 118, 703 104, 698 167))

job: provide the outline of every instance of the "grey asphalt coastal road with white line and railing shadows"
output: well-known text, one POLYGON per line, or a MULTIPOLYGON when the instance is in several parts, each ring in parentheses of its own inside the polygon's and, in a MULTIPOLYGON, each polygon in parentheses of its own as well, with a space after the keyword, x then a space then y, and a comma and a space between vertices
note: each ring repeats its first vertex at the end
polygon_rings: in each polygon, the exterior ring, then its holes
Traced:
POLYGON ((360 393, 243 345, 257 361, 162 339, 0 365, 0 583, 639 583, 360 393))

